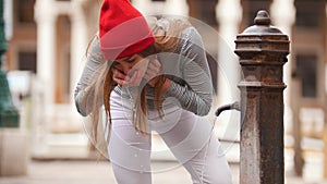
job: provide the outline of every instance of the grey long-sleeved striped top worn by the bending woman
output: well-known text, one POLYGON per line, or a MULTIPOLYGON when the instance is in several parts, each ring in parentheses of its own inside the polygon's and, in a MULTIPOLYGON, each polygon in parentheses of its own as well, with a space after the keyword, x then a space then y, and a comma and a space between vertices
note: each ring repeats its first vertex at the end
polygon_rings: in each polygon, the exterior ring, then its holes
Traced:
MULTIPOLYGON (((94 95, 88 99, 84 99, 85 93, 94 89, 89 87, 92 78, 99 74, 99 69, 106 63, 100 51, 100 42, 98 35, 90 42, 86 64, 82 76, 74 91, 74 99, 77 111, 82 115, 90 113, 94 95)), ((197 115, 206 115, 211 107, 213 85, 206 53, 204 50, 202 38, 194 27, 187 27, 181 35, 179 47, 173 52, 162 52, 157 54, 161 62, 161 73, 171 79, 167 93, 164 95, 164 108, 179 106, 197 115)), ((108 61, 110 62, 110 61, 108 61)), ((146 85, 147 107, 153 109, 154 99, 153 87, 146 85)), ((119 95, 131 98, 129 94, 135 91, 135 87, 114 87, 114 91, 119 95)), ((101 99, 101 97, 98 97, 101 99)))

